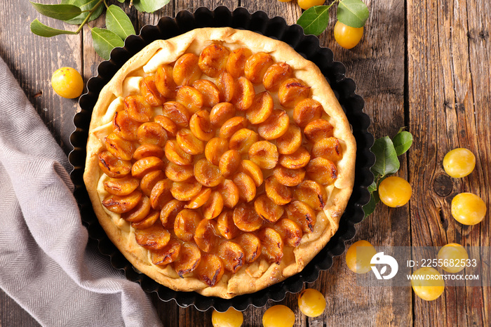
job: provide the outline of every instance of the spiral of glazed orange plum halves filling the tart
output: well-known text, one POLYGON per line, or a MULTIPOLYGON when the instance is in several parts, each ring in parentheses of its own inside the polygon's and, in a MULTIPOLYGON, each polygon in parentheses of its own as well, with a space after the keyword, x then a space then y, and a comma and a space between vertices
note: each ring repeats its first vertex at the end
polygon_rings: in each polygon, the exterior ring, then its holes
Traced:
POLYGON ((248 48, 210 44, 159 66, 124 99, 98 154, 102 205, 154 265, 208 286, 259 258, 280 264, 284 246, 314 231, 342 159, 310 94, 290 65, 248 48))

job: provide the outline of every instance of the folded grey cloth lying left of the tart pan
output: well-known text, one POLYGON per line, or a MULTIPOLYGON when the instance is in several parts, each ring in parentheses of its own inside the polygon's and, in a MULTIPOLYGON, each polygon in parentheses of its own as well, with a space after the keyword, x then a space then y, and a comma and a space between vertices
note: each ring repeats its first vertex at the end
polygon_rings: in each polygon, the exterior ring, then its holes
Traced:
POLYGON ((0 58, 0 287, 43 326, 161 326, 88 247, 67 156, 0 58))

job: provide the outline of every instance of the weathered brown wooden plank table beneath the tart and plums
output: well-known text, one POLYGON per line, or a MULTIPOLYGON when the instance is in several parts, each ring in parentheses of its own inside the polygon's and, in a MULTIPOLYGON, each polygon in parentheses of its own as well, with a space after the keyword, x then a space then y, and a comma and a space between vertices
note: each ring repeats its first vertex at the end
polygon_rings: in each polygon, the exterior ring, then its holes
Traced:
MULTIPOLYGON (((41 1, 55 3, 57 1, 41 1)), ((116 1, 108 1, 119 4, 116 1)), ((128 2, 128 1, 127 1, 128 2)), ((329 3, 330 1, 328 1, 329 3)), ((365 0, 370 18, 361 44, 351 51, 337 46, 332 36, 335 15, 321 45, 335 53, 335 60, 347 66, 347 76, 356 81, 357 93, 365 100, 365 112, 372 119, 370 131, 379 138, 393 136, 408 126, 415 142, 401 160, 399 175, 414 190, 412 200, 402 208, 381 204, 370 218, 357 225, 353 241, 366 239, 375 246, 490 246, 490 217, 466 227, 450 215, 450 201, 459 192, 479 194, 491 203, 491 2, 489 0, 365 0), (455 147, 476 154, 476 169, 467 178, 445 174, 442 160, 455 147)), ((281 15, 288 23, 301 14, 295 1, 276 0, 174 0, 153 14, 137 13, 121 5, 135 29, 155 24, 163 15, 199 6, 281 15)), ((40 15, 25 0, 1 1, 0 56, 19 81, 53 136, 68 153, 69 136, 76 100, 62 99, 53 92, 51 74, 62 66, 83 72, 86 81, 96 73, 101 58, 94 52, 88 27, 76 36, 44 39, 29 32, 29 23, 40 15)), ((64 28, 61 22, 42 22, 64 28)), ((103 27, 102 18, 91 26, 103 27)), ((109 260, 108 260, 109 264, 109 260)), ((491 288, 447 288, 438 300, 426 302, 407 288, 379 288, 356 285, 343 257, 322 272, 315 283, 325 294, 323 316, 306 319, 297 308, 297 296, 288 294, 284 305, 292 308, 296 326, 490 326, 491 288)), ((180 308, 152 295, 164 326, 211 326, 211 311, 180 308)), ((244 312, 244 326, 260 326, 264 308, 244 312)), ((22 308, 0 293, 0 326, 37 326, 22 308)))

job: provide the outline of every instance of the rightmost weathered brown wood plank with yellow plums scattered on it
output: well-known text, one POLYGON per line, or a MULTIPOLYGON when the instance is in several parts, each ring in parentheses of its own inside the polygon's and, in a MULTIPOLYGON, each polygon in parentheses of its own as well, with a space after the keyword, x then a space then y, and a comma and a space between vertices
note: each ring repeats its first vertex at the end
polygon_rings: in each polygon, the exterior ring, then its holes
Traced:
MULTIPOLYGON (((490 9, 487 1, 408 1, 408 105, 410 129, 418 142, 410 151, 410 183, 426 190, 415 194, 410 206, 413 246, 490 246, 488 219, 463 226, 450 215, 452 198, 461 192, 476 193, 490 203, 485 164, 490 161, 485 145, 491 144, 486 133, 490 9), (476 155, 469 177, 453 179, 443 171, 443 156, 455 147, 476 155)), ((447 288, 432 302, 415 297, 415 325, 487 326, 487 289, 447 288)))

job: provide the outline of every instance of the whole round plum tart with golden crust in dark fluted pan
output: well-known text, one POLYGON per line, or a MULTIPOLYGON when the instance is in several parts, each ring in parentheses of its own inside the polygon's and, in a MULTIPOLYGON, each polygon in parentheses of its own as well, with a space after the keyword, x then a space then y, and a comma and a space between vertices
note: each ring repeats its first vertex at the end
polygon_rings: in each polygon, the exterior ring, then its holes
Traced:
POLYGON ((351 195, 355 153, 316 65, 254 32, 194 29, 154 41, 102 89, 83 178, 136 269, 233 298, 321 251, 351 195))

